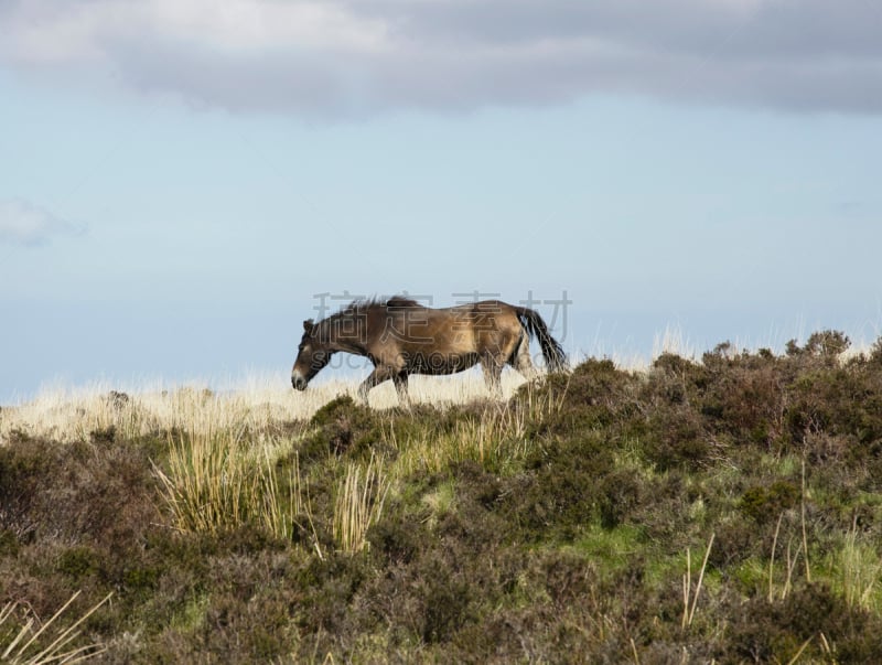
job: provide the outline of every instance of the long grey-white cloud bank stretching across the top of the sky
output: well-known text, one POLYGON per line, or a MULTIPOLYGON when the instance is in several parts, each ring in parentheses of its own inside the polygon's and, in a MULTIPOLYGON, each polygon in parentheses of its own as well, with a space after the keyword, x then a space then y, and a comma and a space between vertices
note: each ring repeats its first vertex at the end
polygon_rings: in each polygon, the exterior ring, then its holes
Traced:
POLYGON ((234 110, 346 116, 631 92, 882 111, 870 0, 7 0, 0 60, 234 110))

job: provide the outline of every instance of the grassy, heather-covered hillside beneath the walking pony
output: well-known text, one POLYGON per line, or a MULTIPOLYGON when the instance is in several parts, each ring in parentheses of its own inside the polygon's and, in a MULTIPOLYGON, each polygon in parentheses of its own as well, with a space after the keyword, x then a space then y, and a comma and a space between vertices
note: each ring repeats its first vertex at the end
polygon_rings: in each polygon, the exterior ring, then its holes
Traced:
POLYGON ((0 661, 879 662, 882 344, 847 345, 3 409, 0 661))

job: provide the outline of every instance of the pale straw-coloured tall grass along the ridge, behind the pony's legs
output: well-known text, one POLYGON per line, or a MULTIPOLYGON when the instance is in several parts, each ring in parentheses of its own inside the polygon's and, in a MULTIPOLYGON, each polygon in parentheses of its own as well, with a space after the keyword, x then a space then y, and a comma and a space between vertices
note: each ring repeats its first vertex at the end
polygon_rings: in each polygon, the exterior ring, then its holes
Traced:
MULTIPOLYGON (((515 372, 503 375, 503 393, 510 396, 524 383, 515 372)), ((283 376, 252 376, 222 392, 208 382, 162 388, 146 384, 126 389, 96 383, 85 387, 52 387, 34 399, 0 410, 0 443, 13 432, 60 441, 87 441, 92 432, 114 428, 118 436, 137 438, 160 431, 197 433, 245 428, 260 431, 280 422, 308 420, 338 395, 355 397, 358 380, 316 383, 294 392, 283 376)), ((487 396, 483 377, 470 372, 454 377, 415 376, 410 380, 415 404, 462 404, 487 396)), ((398 406, 391 384, 370 392, 373 408, 398 406)))

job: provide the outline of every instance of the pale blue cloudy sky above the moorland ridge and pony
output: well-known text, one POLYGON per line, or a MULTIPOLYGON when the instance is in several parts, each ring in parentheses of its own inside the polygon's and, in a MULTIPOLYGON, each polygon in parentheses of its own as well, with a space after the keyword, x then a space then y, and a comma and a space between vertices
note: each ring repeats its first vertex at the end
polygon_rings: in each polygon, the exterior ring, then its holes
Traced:
POLYGON ((879 34, 874 0, 3 0, 0 405, 282 385, 304 319, 398 292, 529 301, 574 355, 870 344, 879 34))

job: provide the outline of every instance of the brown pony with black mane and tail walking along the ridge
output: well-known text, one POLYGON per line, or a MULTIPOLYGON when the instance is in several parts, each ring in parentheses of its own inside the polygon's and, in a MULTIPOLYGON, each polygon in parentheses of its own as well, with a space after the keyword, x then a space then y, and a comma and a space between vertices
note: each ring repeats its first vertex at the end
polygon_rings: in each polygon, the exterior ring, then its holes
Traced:
POLYGON ((358 387, 365 401, 370 388, 390 378, 401 403, 408 404, 408 375, 453 374, 477 363, 487 387, 501 395, 499 378, 506 363, 528 379, 536 376, 529 353, 533 336, 539 339, 549 371, 567 366, 563 348, 542 318, 525 307, 484 300, 431 309, 401 296, 385 302, 355 301, 319 323, 312 319, 303 322, 291 385, 304 390, 334 353, 345 351, 374 364, 358 387))

